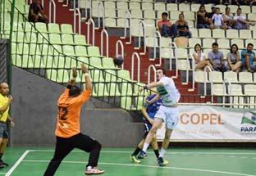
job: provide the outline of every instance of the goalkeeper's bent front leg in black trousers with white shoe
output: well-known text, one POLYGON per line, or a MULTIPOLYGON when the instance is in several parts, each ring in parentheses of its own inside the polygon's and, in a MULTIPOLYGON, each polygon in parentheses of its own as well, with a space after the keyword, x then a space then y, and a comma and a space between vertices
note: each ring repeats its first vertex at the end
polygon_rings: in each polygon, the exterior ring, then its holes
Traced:
POLYGON ((101 144, 94 138, 79 133, 72 138, 72 143, 80 150, 89 152, 89 161, 86 165, 85 174, 104 174, 105 170, 97 169, 98 158, 101 151, 101 144))

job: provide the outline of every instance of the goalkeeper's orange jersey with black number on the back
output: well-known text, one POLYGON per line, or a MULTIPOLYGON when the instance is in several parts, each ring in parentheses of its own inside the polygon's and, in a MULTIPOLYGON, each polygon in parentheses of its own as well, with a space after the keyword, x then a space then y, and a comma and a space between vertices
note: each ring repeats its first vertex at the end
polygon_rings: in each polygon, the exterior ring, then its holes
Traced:
POLYGON ((66 88, 57 101, 58 115, 55 135, 70 138, 80 133, 81 106, 89 100, 91 90, 84 90, 78 97, 69 97, 70 89, 66 88))

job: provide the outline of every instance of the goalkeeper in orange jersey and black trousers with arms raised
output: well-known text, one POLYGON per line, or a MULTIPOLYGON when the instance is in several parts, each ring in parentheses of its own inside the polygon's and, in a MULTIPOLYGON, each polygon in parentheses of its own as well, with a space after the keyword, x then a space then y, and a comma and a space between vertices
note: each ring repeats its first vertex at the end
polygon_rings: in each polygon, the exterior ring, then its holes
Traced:
POLYGON ((75 68, 73 68, 73 78, 57 101, 58 114, 55 131, 57 142, 53 159, 43 174, 44 176, 54 175, 62 160, 74 148, 89 152, 89 162, 85 169, 86 175, 105 173, 104 170, 97 169, 101 144, 94 138, 80 133, 80 109, 89 100, 92 93, 92 83, 87 67, 81 65, 81 70, 85 75, 85 90, 80 93, 80 88, 75 86, 77 74, 75 68))

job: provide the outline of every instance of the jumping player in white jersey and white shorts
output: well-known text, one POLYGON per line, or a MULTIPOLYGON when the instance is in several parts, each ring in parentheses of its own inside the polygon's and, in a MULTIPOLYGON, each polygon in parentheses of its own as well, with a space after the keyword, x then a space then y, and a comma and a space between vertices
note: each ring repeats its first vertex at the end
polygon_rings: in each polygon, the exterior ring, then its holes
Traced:
POLYGON ((158 82, 149 83, 145 85, 144 88, 140 88, 141 92, 143 89, 157 88, 158 94, 162 99, 162 106, 159 107, 157 114, 153 120, 152 129, 150 129, 149 134, 144 142, 144 147, 140 151, 139 157, 144 158, 146 156, 147 148, 149 143, 152 141, 153 135, 157 132, 158 128, 162 122, 166 123, 166 133, 162 142, 162 148, 158 156, 158 165, 163 166, 164 153, 169 146, 171 132, 178 124, 178 107, 177 103, 180 100, 181 94, 176 89, 175 83, 171 78, 166 76, 165 70, 162 68, 157 69, 158 82))

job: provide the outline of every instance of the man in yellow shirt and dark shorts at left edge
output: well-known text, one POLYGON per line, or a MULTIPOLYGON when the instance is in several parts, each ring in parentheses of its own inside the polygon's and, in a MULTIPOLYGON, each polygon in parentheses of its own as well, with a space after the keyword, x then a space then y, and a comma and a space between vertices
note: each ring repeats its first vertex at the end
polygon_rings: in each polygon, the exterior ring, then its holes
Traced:
POLYGON ((8 164, 2 161, 2 155, 7 147, 8 143, 8 131, 7 131, 7 120, 11 122, 11 126, 14 123, 8 114, 9 108, 12 102, 11 95, 9 93, 9 86, 7 83, 0 83, 0 169, 7 167, 8 164))

